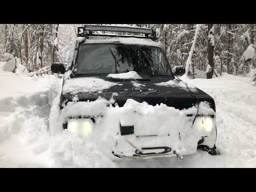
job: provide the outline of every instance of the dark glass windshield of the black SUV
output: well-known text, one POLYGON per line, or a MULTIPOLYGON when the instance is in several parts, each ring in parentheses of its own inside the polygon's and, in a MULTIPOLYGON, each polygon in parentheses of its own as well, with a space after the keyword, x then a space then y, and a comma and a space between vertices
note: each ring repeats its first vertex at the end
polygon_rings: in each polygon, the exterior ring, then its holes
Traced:
POLYGON ((172 75, 159 47, 124 44, 84 44, 79 47, 76 74, 172 75))

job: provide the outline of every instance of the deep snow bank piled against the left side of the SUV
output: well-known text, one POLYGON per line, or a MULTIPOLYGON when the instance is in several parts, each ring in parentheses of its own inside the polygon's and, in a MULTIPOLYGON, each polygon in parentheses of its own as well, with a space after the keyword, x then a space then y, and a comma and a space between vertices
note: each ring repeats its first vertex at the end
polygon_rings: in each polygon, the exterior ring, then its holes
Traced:
POLYGON ((50 109, 51 125, 56 119, 54 113, 60 111, 58 78, 47 75, 33 81, 0 71, 1 82, 0 167, 116 167, 95 145, 78 135, 67 130, 50 134, 50 109))

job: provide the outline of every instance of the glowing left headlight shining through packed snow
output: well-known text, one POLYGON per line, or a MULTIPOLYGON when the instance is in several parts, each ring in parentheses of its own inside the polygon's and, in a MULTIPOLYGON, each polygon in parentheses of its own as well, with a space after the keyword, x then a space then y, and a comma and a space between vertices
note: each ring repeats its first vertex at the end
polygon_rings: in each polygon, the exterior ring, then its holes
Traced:
POLYGON ((94 123, 90 118, 78 118, 68 120, 68 131, 71 133, 82 133, 85 137, 93 130, 94 123))

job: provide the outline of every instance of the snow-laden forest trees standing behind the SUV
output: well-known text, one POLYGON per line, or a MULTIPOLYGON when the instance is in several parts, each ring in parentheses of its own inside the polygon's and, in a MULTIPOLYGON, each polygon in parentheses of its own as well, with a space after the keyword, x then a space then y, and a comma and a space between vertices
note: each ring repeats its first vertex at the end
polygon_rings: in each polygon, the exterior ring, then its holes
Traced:
MULTIPOLYGON (((31 73, 29 76, 51 73, 52 62, 67 62, 71 42, 77 37, 77 27, 84 25, 1 24, 0 61, 19 58, 21 65, 31 73)), ((129 25, 156 30, 157 41, 163 46, 171 67, 186 66, 196 24, 129 25)), ((221 76, 222 73, 250 77, 251 70, 256 68, 255 26, 199 25, 188 77, 212 78, 221 76)))

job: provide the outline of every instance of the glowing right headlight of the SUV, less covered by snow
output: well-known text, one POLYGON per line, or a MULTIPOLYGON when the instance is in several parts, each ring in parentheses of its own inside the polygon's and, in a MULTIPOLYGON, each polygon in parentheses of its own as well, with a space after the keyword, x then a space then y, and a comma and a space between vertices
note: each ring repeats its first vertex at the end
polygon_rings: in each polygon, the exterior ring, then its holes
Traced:
POLYGON ((203 132, 211 132, 214 129, 215 123, 214 118, 210 116, 199 116, 196 117, 195 126, 203 132))

